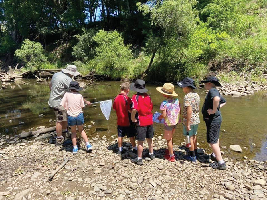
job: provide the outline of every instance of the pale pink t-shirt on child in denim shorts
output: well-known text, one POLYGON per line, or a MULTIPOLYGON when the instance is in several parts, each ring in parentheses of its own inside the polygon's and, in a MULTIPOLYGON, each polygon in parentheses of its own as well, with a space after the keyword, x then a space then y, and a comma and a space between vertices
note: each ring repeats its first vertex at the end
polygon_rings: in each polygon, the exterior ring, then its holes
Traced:
POLYGON ((67 110, 67 114, 72 117, 77 117, 82 113, 82 108, 85 106, 83 97, 78 92, 66 92, 60 105, 62 105, 67 110))

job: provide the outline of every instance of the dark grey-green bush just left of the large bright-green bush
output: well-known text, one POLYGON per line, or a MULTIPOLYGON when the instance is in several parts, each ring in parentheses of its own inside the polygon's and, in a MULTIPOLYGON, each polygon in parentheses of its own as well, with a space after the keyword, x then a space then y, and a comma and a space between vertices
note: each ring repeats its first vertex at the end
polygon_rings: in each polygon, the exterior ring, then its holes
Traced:
POLYGON ((94 29, 82 29, 82 35, 75 35, 78 43, 73 47, 72 55, 80 61, 89 61, 95 55, 96 42, 93 37, 96 31, 94 29))

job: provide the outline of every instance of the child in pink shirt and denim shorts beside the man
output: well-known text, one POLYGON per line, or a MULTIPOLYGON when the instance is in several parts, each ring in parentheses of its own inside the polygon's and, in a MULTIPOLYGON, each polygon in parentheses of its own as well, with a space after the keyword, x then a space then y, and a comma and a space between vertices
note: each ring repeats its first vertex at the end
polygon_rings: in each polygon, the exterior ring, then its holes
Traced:
POLYGON ((76 125, 78 127, 79 133, 84 139, 87 151, 92 151, 92 146, 88 142, 87 135, 83 129, 84 115, 82 113, 82 108, 84 105, 84 100, 82 95, 78 92, 83 90, 76 81, 70 82, 70 91, 64 94, 60 105, 62 105, 68 114, 68 125, 71 127, 71 139, 73 144, 72 153, 78 153, 77 139, 76 139, 76 125))

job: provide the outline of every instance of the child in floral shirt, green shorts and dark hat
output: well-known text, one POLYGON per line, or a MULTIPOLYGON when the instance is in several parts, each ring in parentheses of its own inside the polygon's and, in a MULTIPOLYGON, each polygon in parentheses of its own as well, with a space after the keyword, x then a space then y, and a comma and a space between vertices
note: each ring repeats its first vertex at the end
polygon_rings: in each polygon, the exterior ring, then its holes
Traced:
POLYGON ((186 77, 178 85, 183 88, 185 93, 185 101, 183 105, 183 134, 189 134, 191 147, 189 147, 189 155, 183 158, 188 161, 197 162, 197 128, 199 120, 199 95, 194 92, 196 89, 194 80, 186 77))

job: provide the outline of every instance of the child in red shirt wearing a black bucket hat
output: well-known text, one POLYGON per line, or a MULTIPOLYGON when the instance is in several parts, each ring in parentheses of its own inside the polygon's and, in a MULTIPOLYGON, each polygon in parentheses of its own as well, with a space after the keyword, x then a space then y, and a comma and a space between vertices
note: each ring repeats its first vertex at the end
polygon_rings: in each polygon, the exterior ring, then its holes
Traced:
POLYGON ((132 114, 131 120, 135 123, 138 140, 137 158, 131 159, 132 163, 142 165, 143 142, 147 139, 149 153, 148 157, 152 160, 155 158, 153 154, 154 136, 152 109, 153 104, 150 96, 146 93, 145 81, 137 79, 135 83, 131 84, 131 90, 136 91, 137 94, 132 96, 132 114))

